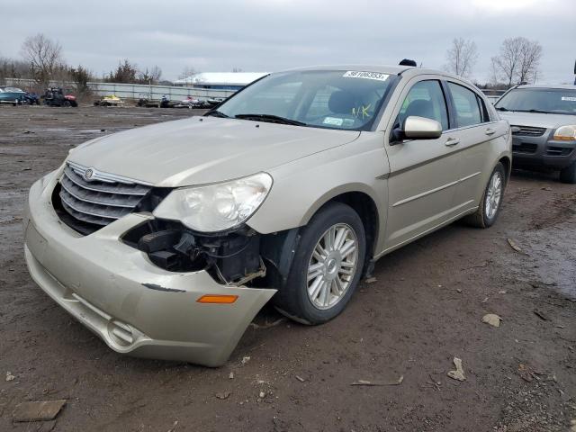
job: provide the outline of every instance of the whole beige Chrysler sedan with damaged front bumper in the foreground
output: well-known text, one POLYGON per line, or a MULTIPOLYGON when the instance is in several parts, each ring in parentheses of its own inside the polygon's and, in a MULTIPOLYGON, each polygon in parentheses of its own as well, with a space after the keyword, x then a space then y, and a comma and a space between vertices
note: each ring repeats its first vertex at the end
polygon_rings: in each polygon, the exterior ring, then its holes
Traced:
POLYGON ((508 121, 457 76, 275 73, 71 150, 31 187, 25 257, 113 350, 222 365, 270 299, 320 324, 376 259, 464 217, 490 227, 511 156, 508 121))

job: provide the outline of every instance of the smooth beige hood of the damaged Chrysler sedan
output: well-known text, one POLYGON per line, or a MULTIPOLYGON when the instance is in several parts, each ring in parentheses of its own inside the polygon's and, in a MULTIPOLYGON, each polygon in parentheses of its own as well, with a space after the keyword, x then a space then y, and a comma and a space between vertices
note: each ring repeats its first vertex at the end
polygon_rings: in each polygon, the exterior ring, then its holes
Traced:
POLYGON ((191 117, 86 142, 68 160, 162 187, 215 183, 347 144, 360 132, 191 117))

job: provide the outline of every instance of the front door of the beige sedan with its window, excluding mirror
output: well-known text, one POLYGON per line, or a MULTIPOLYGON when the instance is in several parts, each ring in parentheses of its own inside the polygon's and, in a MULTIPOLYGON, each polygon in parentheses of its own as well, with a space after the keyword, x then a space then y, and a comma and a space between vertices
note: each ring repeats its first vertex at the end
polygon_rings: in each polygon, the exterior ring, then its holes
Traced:
POLYGON ((436 228, 455 215, 454 198, 460 154, 450 132, 445 89, 436 76, 418 76, 402 90, 387 130, 403 124, 410 115, 442 124, 438 139, 388 142, 389 209, 384 247, 401 246, 436 228))

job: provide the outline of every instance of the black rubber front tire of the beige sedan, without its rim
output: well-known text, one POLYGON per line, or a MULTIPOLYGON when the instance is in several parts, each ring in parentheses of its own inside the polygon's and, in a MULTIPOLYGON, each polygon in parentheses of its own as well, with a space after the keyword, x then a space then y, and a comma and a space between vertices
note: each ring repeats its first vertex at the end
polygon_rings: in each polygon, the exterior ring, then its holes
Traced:
MULTIPOLYGON (((300 243, 294 254, 290 274, 274 297, 275 307, 288 318, 302 324, 320 324, 332 320, 344 310, 360 282, 366 254, 365 229, 358 213, 350 206, 342 202, 330 202, 312 217, 308 225, 302 228, 300 235, 300 243), (346 225, 356 234, 356 270, 339 300, 327 309, 320 309, 314 305, 308 294, 308 270, 312 252, 320 238, 337 224, 346 225)), ((338 266, 336 273, 339 275, 338 266)), ((331 295, 331 286, 328 297, 331 295)))

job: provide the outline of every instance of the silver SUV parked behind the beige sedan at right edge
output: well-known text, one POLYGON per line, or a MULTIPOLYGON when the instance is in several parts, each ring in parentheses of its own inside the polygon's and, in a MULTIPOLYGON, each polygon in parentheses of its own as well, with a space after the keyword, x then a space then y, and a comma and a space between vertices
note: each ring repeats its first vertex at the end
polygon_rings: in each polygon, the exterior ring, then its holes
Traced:
POLYGON ((512 126, 514 166, 576 184, 576 86, 517 85, 495 103, 512 126))

